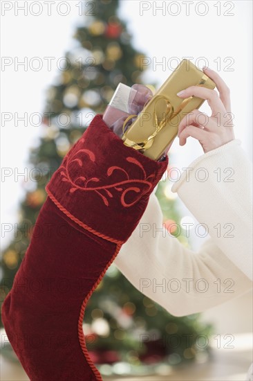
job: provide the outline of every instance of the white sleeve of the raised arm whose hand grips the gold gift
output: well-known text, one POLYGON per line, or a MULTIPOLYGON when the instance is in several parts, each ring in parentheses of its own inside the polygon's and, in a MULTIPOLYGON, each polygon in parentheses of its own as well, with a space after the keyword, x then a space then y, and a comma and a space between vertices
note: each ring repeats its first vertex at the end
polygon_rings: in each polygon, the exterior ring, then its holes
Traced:
POLYGON ((172 191, 198 222, 207 224, 225 256, 252 280, 252 163, 241 141, 198 157, 172 191))

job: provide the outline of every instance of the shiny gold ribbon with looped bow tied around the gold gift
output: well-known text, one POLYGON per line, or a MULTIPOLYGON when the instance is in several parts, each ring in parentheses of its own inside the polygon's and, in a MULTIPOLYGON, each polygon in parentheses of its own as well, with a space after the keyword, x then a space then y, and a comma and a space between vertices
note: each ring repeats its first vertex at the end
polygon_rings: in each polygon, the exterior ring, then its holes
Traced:
MULTIPOLYGON (((207 79, 208 79, 208 77, 205 74, 203 74, 202 78, 200 79, 200 81, 198 82, 198 84, 196 86, 203 86, 207 79)), ((135 114, 129 115, 127 117, 127 119, 124 121, 124 124, 122 127, 122 130, 123 130, 122 139, 124 141, 124 144, 129 145, 130 147, 134 148, 135 150, 147 150, 147 149, 149 149, 151 147, 151 145, 153 144, 153 140, 154 140, 155 136, 158 134, 158 132, 160 132, 160 130, 162 130, 162 128, 165 127, 165 125, 167 125, 167 123, 169 121, 171 121, 172 118, 177 116, 182 111, 182 109, 189 103, 189 101, 192 98, 194 98, 194 96, 189 96, 189 98, 185 98, 182 101, 182 103, 180 104, 180 106, 178 107, 178 109, 176 110, 176 112, 174 112, 174 107, 171 105, 169 98, 167 98, 166 96, 153 96, 153 98, 151 98, 151 100, 147 100, 144 107, 147 105, 147 103, 149 103, 149 105, 151 103, 155 103, 155 105, 154 105, 155 110, 156 110, 156 104, 160 100, 165 100, 166 101, 165 117, 162 118, 162 121, 159 122, 157 113, 155 111, 156 130, 153 132, 153 134, 149 135, 147 137, 147 139, 145 139, 144 141, 135 142, 135 141, 131 141, 130 139, 127 138, 127 132, 125 132, 125 128, 127 126, 127 123, 131 120, 131 118, 135 118, 135 116, 138 116, 138 115, 135 115, 135 114)))

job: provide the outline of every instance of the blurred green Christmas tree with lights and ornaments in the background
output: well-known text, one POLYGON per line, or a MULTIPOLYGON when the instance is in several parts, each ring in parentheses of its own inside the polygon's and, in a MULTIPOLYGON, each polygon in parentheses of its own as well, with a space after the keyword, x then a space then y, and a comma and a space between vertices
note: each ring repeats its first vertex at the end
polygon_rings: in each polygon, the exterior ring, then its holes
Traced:
MULTIPOLYGON (((131 86, 142 82, 140 60, 144 54, 131 46, 131 35, 117 16, 119 1, 88 1, 83 6, 85 10, 90 7, 92 15, 84 16, 84 26, 76 30, 73 49, 66 53, 66 66, 48 89, 43 136, 30 153, 30 168, 36 168, 32 170, 32 179, 36 181, 24 184, 26 197, 21 202, 18 229, 2 254, 2 301, 24 258, 32 227, 46 199, 44 188, 50 176, 93 116, 104 112, 118 83, 131 86)), ((157 194, 165 223, 173 234, 179 215, 168 181, 160 181, 157 194)), ((187 245, 186 238, 178 239, 187 245)), ((97 364, 124 360, 138 365, 165 357, 169 364, 179 364, 196 357, 196 337, 209 333, 209 327, 202 326, 197 315, 172 317, 135 290, 115 265, 111 265, 88 301, 84 321, 87 348, 97 364), (140 335, 144 333, 150 339, 142 345, 140 335), (181 343, 178 346, 168 345, 174 335, 181 343), (189 342, 183 339, 184 335, 189 335, 189 342)))

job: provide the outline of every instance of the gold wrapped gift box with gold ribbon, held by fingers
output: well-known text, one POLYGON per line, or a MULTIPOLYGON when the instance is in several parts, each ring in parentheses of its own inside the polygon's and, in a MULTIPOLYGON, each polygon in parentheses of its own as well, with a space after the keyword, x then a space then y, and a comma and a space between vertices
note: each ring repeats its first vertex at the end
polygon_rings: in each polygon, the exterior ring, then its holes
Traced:
POLYGON ((189 86, 214 89, 215 83, 191 61, 182 60, 167 81, 158 89, 142 112, 130 125, 125 126, 134 115, 124 122, 122 139, 125 145, 140 150, 145 156, 158 160, 178 133, 182 118, 198 109, 205 101, 196 96, 182 99, 176 94, 189 86))

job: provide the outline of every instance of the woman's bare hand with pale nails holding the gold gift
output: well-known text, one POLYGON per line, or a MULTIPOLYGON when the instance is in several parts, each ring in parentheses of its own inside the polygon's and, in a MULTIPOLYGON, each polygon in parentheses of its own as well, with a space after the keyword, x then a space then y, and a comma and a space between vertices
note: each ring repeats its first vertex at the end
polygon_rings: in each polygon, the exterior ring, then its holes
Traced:
POLYGON ((211 78, 219 91, 205 87, 191 86, 180 91, 180 98, 197 96, 206 99, 212 109, 212 115, 207 116, 198 109, 185 115, 178 126, 179 144, 185 145, 189 136, 198 139, 204 152, 209 152, 234 138, 234 125, 230 105, 229 88, 218 74, 209 68, 203 68, 204 73, 211 78))

